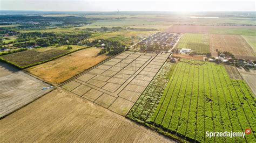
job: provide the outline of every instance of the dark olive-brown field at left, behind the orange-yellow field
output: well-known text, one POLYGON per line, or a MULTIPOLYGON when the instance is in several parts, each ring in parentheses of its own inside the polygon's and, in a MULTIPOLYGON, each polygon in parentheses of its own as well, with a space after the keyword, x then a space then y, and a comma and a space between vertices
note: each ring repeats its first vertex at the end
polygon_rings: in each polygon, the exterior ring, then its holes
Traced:
POLYGON ((67 47, 68 46, 31 49, 23 52, 3 55, 0 56, 0 58, 19 68, 26 68, 56 59, 59 56, 77 51, 79 49, 86 48, 85 46, 76 45, 73 45, 72 49, 66 49, 67 47))

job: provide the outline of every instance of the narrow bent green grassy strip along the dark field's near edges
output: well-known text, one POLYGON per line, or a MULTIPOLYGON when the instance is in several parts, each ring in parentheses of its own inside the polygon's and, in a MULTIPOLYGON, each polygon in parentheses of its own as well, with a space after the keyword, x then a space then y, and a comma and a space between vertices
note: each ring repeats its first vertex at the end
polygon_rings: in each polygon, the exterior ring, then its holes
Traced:
POLYGON ((49 60, 45 60, 45 61, 42 61, 42 62, 36 62, 36 63, 30 64, 30 65, 27 65, 27 66, 19 66, 19 65, 17 65, 16 63, 10 62, 10 61, 5 60, 5 59, 3 59, 3 58, 1 58, 1 57, 0 57, 0 61, 5 62, 5 63, 8 63, 9 65, 15 66, 15 67, 17 67, 17 68, 19 68, 19 69, 25 69, 25 68, 30 68, 30 67, 33 67, 33 66, 36 66, 36 65, 40 65, 40 64, 45 63, 45 62, 49 62, 49 61, 58 59, 58 58, 60 58, 60 57, 62 57, 62 56, 65 56, 65 55, 68 55, 68 54, 71 54, 71 53, 80 51, 80 50, 85 49, 85 48, 89 48, 89 47, 80 48, 80 49, 77 49, 77 50, 72 51, 72 52, 68 52, 68 53, 65 53, 65 54, 62 54, 62 55, 55 56, 55 57, 53 57, 53 58, 51 58, 51 59, 49 59, 49 60))

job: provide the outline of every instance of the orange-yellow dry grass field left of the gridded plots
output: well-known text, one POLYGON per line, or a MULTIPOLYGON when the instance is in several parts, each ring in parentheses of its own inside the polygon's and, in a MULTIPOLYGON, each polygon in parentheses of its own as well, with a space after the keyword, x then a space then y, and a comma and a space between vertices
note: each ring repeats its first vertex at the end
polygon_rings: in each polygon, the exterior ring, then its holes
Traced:
POLYGON ((95 47, 82 49, 62 58, 25 69, 25 71, 46 82, 59 84, 109 58, 105 54, 98 55, 99 52, 100 48, 95 47))

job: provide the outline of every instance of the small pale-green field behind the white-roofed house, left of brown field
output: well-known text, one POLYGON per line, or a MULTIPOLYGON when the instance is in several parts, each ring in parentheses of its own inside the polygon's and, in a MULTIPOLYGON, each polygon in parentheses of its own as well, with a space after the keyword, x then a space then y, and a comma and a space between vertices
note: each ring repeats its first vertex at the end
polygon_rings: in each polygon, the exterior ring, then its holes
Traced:
POLYGON ((209 53, 209 37, 206 34, 186 33, 179 40, 177 48, 190 48, 198 54, 209 53))

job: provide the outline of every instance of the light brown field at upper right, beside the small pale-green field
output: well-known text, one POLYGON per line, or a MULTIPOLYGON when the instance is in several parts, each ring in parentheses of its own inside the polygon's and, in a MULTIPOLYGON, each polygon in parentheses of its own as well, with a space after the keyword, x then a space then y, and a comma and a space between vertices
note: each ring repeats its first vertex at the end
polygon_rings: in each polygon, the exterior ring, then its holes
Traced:
POLYGON ((254 56, 252 47, 240 35, 211 34, 210 50, 214 56, 217 56, 216 49, 231 52, 235 56, 254 56))

